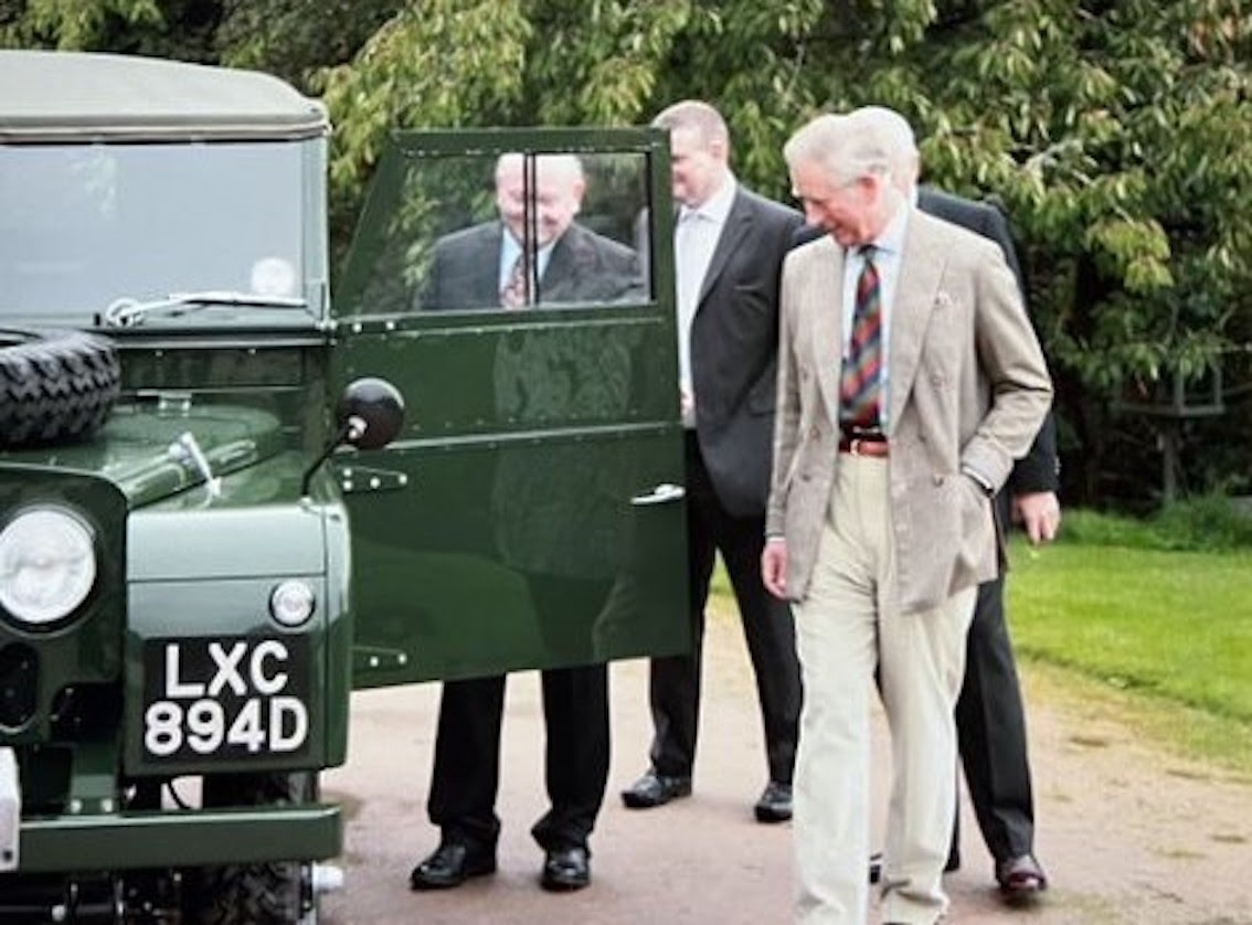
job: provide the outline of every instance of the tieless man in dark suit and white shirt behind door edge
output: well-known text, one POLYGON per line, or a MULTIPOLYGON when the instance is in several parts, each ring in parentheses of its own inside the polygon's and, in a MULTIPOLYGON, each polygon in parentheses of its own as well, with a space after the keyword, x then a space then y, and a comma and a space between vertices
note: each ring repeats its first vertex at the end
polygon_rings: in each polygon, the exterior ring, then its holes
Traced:
POLYGON ((790 611, 765 591, 759 563, 774 428, 777 284, 800 217, 735 181, 726 124, 712 106, 677 103, 654 124, 671 133, 679 203, 676 295, 694 648, 690 656, 652 660, 651 767, 622 791, 622 800, 647 809, 691 792, 705 603, 720 552, 765 727, 769 779, 755 812, 762 822, 777 822, 791 816, 800 670, 790 611))

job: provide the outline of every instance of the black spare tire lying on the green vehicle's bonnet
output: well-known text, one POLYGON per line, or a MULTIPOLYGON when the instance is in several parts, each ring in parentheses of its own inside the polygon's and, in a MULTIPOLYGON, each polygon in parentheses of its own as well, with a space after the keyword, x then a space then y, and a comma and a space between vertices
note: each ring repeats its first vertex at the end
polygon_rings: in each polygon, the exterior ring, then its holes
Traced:
POLYGON ((103 337, 0 329, 0 448, 86 439, 120 383, 118 352, 103 337))

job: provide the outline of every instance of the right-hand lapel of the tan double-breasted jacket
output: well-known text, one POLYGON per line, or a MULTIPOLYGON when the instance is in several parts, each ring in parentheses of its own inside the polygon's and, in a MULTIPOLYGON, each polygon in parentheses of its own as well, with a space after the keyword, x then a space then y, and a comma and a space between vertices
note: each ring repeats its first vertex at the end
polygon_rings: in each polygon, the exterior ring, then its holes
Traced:
POLYGON ((893 429, 900 421, 905 398, 913 391, 931 312, 945 298, 944 293, 939 292, 939 283, 943 279, 947 259, 931 234, 935 220, 916 209, 913 210, 900 258, 900 279, 891 305, 888 421, 893 429))

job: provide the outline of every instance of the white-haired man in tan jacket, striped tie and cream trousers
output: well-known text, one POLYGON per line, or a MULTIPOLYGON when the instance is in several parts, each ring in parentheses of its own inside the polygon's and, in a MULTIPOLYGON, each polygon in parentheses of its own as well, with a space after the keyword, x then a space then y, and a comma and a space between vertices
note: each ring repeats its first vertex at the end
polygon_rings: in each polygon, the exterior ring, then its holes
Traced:
POLYGON ((823 925, 866 917, 875 671, 894 772, 884 921, 947 909, 953 707, 975 590, 997 571, 992 496, 1052 401, 999 248, 910 207, 891 176, 898 139, 866 109, 819 116, 784 149, 828 234, 782 272, 761 566, 795 602, 798 917, 823 925))

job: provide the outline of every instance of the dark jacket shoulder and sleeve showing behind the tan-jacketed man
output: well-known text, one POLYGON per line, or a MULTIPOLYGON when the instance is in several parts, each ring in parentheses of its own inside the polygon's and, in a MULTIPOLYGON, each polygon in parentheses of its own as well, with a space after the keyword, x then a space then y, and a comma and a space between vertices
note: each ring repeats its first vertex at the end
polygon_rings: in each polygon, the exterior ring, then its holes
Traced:
MULTIPOLYGON (((1009 234, 1008 222, 1004 213, 990 203, 980 203, 973 199, 963 199, 949 193, 943 193, 929 187, 918 190, 918 208, 928 212, 935 218, 952 222, 954 225, 968 228, 975 234, 994 240, 1004 252, 1004 259, 1017 277, 1018 288, 1022 289, 1022 299, 1029 310, 1030 303, 1027 299, 1025 279, 1022 277, 1022 265, 1018 263, 1017 250, 1013 247, 1013 237, 1009 234)), ((1048 412, 1039 434, 1030 444, 1029 452, 1017 461, 1013 474, 1009 476, 1008 491, 1000 492, 1000 514, 1008 523, 1008 506, 1012 496, 1027 494, 1030 492, 1054 492, 1059 484, 1057 471, 1057 426, 1048 412)))

